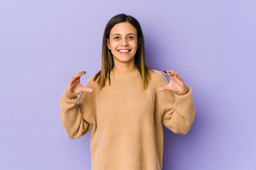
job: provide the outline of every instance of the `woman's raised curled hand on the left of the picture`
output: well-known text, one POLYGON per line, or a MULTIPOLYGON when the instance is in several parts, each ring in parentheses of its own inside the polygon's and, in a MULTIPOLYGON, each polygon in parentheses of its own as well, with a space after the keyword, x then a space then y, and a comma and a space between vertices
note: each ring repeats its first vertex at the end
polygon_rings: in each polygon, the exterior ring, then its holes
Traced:
POLYGON ((70 83, 67 86, 67 92, 79 94, 81 92, 93 92, 93 89, 89 87, 83 87, 80 83, 81 75, 86 74, 86 72, 77 72, 72 79, 70 80, 70 83))

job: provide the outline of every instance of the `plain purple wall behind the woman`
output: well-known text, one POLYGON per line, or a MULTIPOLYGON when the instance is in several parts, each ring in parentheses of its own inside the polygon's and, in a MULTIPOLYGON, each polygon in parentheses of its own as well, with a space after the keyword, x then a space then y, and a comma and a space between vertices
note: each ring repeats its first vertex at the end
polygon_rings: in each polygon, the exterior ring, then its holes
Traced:
POLYGON ((119 13, 140 22, 147 65, 193 89, 189 133, 164 126, 163 170, 255 170, 255 0, 1 0, 0 169, 91 169, 91 131, 69 139, 58 102, 74 73, 99 71, 119 13))

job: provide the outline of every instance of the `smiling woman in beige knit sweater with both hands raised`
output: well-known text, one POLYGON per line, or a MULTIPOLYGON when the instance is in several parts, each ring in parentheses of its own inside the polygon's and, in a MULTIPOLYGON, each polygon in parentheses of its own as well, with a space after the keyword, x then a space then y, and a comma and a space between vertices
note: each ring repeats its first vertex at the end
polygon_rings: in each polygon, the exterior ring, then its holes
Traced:
POLYGON ((106 25, 101 70, 83 87, 85 73, 74 74, 61 96, 61 121, 70 139, 92 129, 92 170, 161 170, 162 123, 188 133, 195 116, 191 87, 174 70, 145 65, 140 24, 125 14, 106 25))

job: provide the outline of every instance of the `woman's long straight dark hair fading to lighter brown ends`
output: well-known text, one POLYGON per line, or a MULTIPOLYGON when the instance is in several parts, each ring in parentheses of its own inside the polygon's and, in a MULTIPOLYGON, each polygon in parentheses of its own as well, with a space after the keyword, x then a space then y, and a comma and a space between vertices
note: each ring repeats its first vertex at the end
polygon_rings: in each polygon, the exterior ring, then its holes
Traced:
POLYGON ((138 39, 140 38, 140 44, 135 54, 135 65, 141 74, 142 89, 146 89, 148 82, 150 81, 150 71, 153 72, 153 69, 145 65, 144 38, 141 26, 134 17, 126 14, 115 15, 106 25, 102 40, 101 70, 95 74, 93 81, 96 81, 99 77, 97 81, 99 89, 102 89, 105 86, 107 80, 109 81, 110 85, 110 72, 114 67, 114 59, 111 50, 107 48, 107 39, 109 39, 110 30, 113 28, 113 26, 120 22, 129 22, 137 30, 137 37, 138 39))

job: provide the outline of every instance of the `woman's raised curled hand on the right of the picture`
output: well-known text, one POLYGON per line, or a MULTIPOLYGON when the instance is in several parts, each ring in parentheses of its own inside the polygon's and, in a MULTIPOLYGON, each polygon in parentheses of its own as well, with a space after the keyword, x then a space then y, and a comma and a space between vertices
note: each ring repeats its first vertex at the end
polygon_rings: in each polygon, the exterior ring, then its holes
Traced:
POLYGON ((173 92, 186 91, 186 85, 177 72, 175 72, 174 70, 164 70, 163 73, 164 75, 170 76, 170 82, 166 86, 159 87, 158 92, 162 92, 164 90, 171 90, 173 92))

